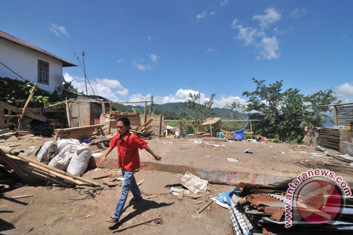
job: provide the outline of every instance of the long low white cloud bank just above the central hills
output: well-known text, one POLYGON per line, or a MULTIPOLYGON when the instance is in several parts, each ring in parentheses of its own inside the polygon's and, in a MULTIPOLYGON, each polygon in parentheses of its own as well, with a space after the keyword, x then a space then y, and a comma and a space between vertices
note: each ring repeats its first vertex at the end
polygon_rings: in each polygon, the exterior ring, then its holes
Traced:
MULTIPOLYGON (((180 88, 175 94, 170 94, 168 96, 153 96, 153 100, 156 104, 166 104, 166 103, 177 103, 177 102, 184 102, 187 99, 189 99, 189 94, 198 94, 199 91, 195 91, 195 90, 191 90, 191 89, 182 89, 180 88)), ((201 103, 203 104, 205 101, 209 100, 209 97, 206 97, 204 93, 200 93, 201 94, 201 103)), ((142 95, 140 93, 138 94, 133 94, 130 97, 129 101, 141 101, 141 100, 150 100, 151 99, 151 94, 146 94, 146 95, 142 95)), ((233 95, 229 95, 229 96, 225 96, 225 95, 221 95, 221 97, 219 99, 215 99, 214 100, 214 107, 219 107, 222 108, 224 107, 226 104, 231 104, 233 103, 233 101, 238 101, 240 103, 245 103, 245 99, 241 99, 238 96, 233 96, 233 95)))

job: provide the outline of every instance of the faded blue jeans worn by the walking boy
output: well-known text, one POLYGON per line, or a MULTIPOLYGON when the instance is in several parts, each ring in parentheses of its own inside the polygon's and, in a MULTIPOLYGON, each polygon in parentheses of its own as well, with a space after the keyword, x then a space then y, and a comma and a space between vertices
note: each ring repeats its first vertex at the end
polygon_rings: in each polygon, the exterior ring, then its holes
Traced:
POLYGON ((133 175, 134 172, 135 172, 134 170, 125 171, 124 168, 121 168, 121 173, 122 173, 122 176, 124 177, 124 181, 122 181, 122 185, 121 185, 120 199, 116 204, 115 212, 114 212, 114 215, 112 216, 116 220, 119 220, 121 216, 122 209, 124 209, 124 205, 125 205, 129 190, 131 190, 134 198, 141 197, 140 189, 138 188, 135 177, 133 175))

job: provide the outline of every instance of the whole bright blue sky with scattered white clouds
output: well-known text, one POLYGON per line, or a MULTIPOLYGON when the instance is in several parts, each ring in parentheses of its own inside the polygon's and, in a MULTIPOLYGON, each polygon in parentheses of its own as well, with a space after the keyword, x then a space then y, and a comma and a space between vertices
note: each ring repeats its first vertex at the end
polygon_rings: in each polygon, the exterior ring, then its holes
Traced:
MULTIPOLYGON (((79 64, 112 100, 215 105, 253 91, 252 77, 353 101, 352 1, 5 1, 0 30, 79 64)), ((84 90, 82 69, 65 79, 84 90)))

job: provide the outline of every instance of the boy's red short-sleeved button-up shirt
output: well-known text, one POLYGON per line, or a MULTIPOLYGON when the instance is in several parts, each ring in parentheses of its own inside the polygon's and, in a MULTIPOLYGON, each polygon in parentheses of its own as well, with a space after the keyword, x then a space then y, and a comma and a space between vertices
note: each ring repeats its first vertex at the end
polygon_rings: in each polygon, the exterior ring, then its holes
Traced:
POLYGON ((140 168, 138 149, 146 148, 147 142, 130 132, 122 139, 120 134, 116 133, 109 142, 109 146, 118 148, 118 167, 124 168, 125 171, 132 171, 140 168))

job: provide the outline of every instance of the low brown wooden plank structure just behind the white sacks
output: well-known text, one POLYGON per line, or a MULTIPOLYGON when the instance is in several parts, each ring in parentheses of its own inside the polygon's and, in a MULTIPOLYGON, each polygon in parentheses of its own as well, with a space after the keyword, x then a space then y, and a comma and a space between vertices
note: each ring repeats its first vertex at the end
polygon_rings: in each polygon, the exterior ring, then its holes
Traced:
POLYGON ((64 129, 55 129, 56 139, 73 138, 77 140, 84 140, 87 138, 96 137, 99 135, 104 136, 102 126, 104 124, 96 124, 90 126, 79 126, 64 129))

